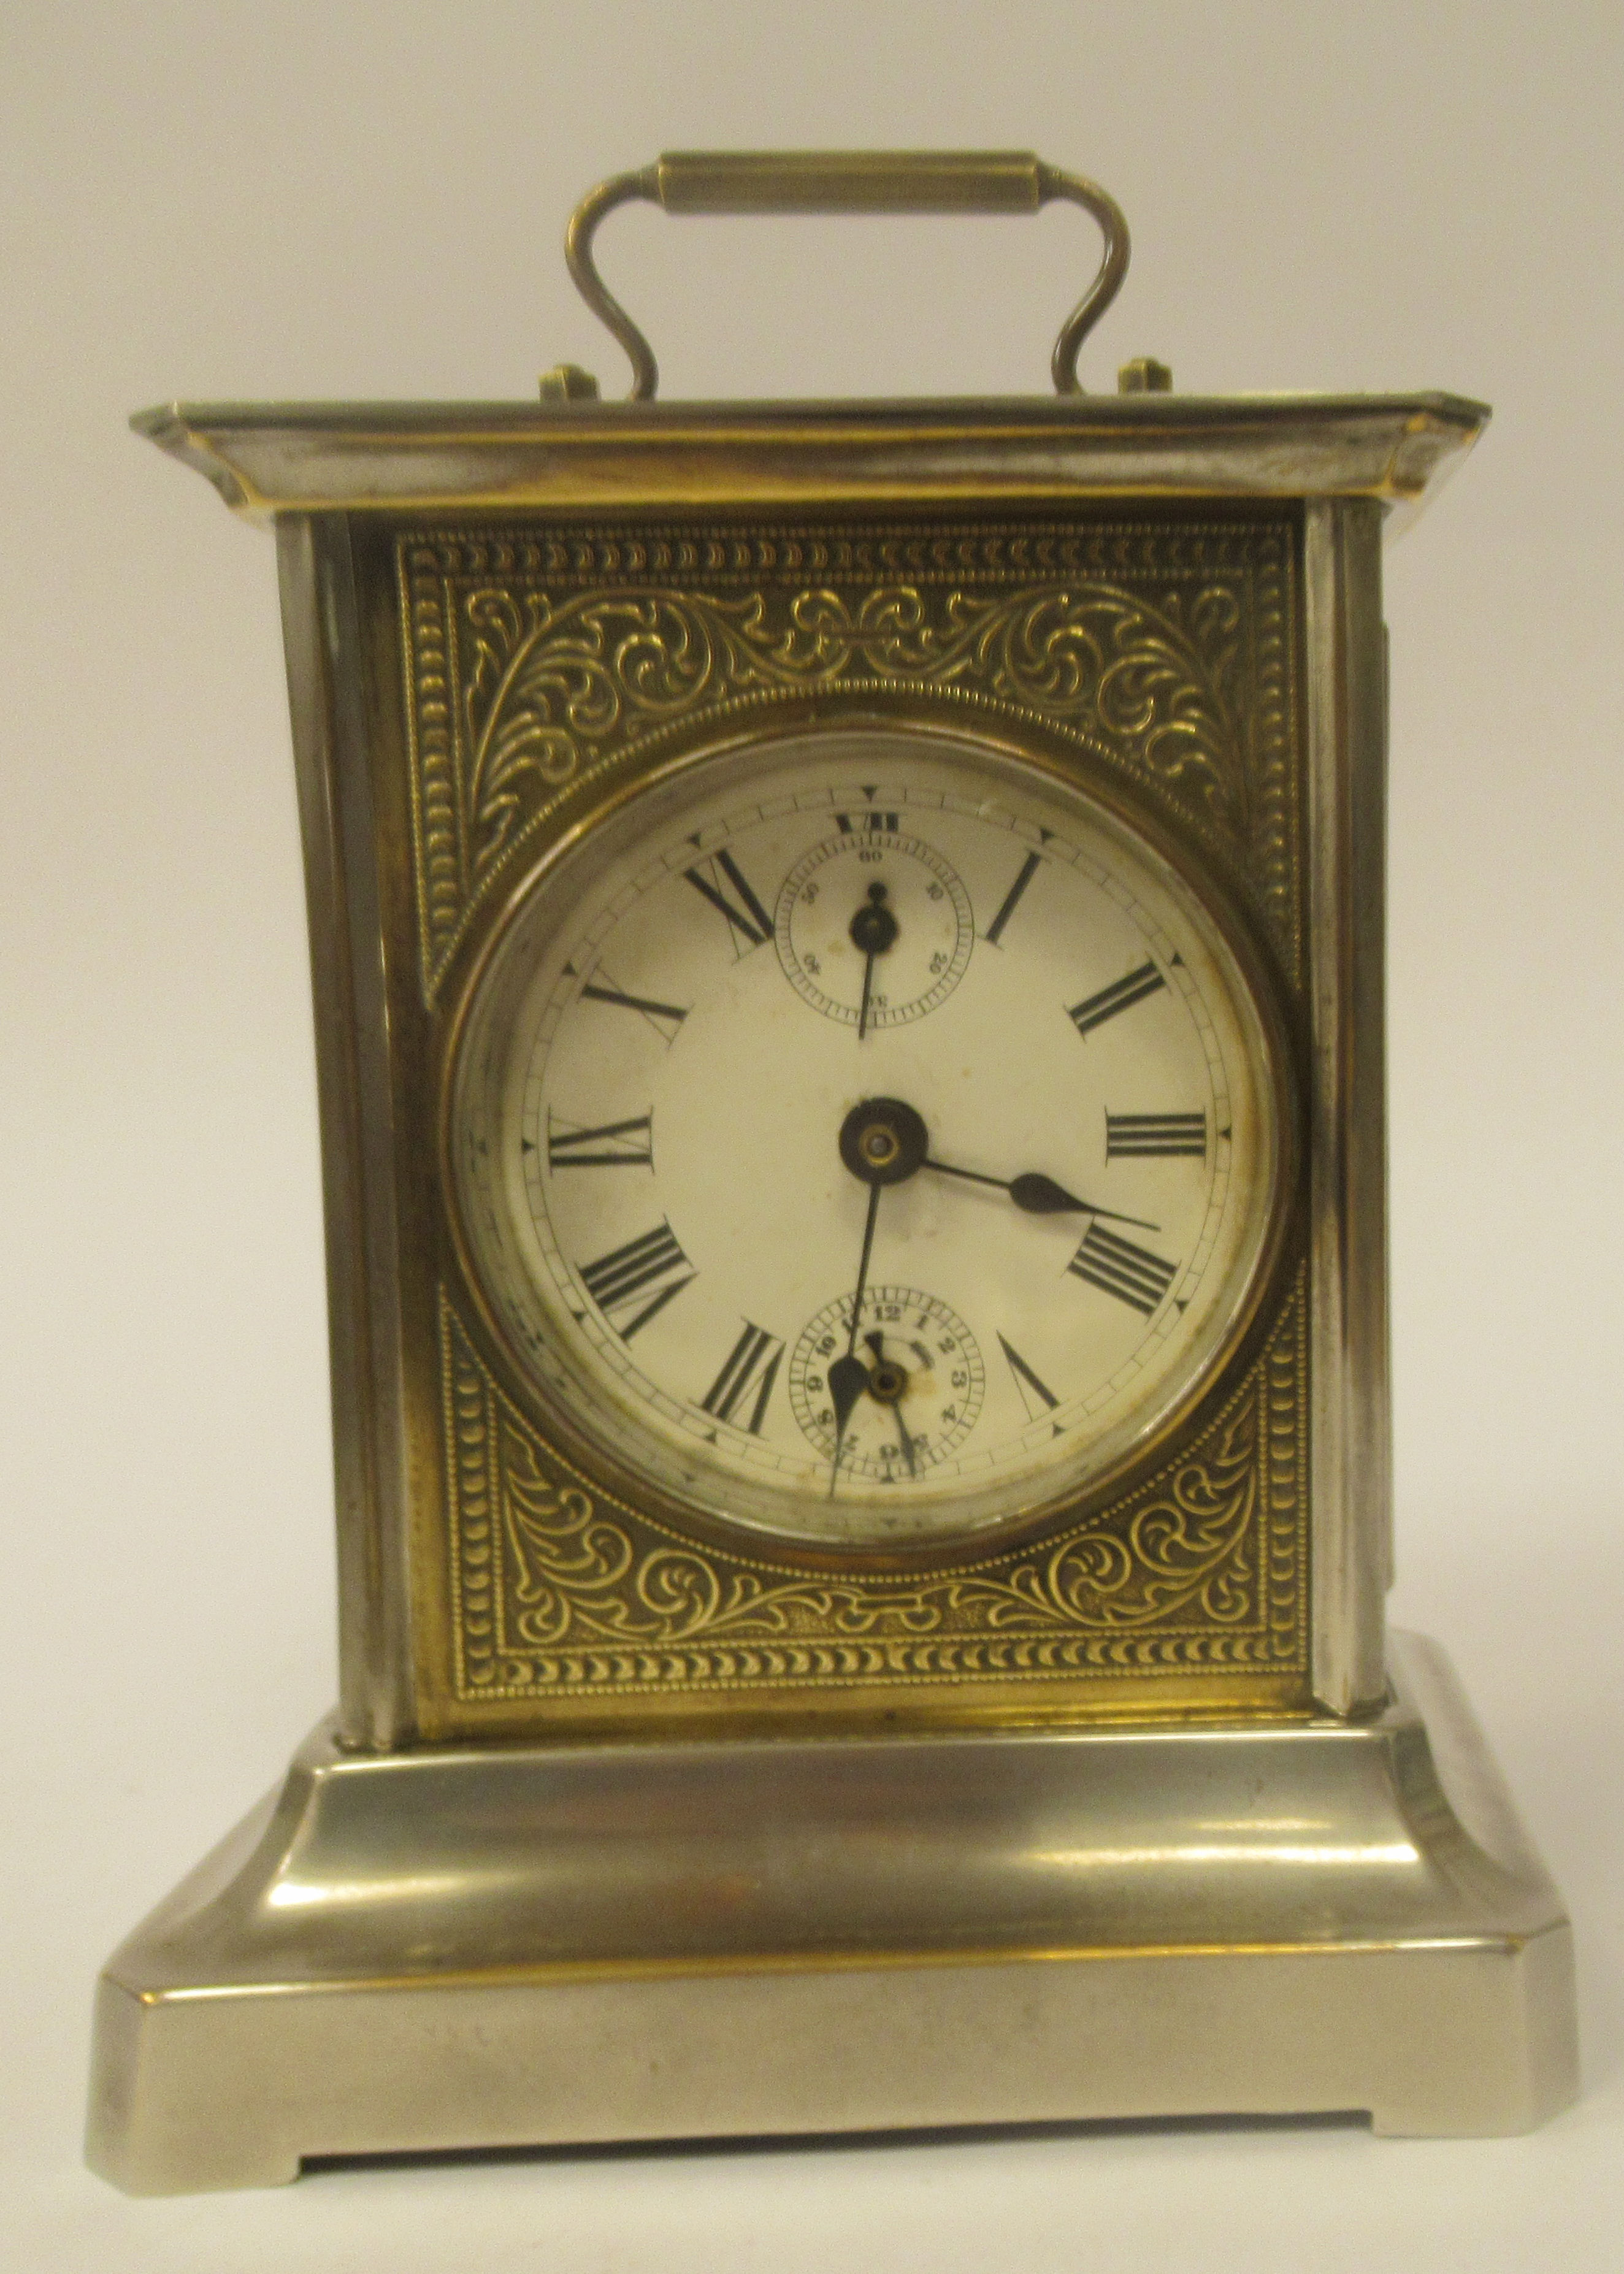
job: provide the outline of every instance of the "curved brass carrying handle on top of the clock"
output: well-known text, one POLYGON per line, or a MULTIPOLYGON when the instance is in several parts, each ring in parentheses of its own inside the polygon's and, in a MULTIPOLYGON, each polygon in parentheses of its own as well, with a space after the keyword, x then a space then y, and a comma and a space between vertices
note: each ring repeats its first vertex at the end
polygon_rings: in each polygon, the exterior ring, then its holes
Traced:
POLYGON ((1094 216, 1105 248, 1055 339, 1049 368, 1060 396, 1083 393, 1078 350, 1128 273, 1128 223, 1117 200, 1030 150, 669 150, 589 191, 564 236, 575 289, 632 359, 630 402, 653 402, 660 366, 598 275, 591 236, 605 214, 635 198, 666 214, 1035 214, 1067 198, 1094 216))

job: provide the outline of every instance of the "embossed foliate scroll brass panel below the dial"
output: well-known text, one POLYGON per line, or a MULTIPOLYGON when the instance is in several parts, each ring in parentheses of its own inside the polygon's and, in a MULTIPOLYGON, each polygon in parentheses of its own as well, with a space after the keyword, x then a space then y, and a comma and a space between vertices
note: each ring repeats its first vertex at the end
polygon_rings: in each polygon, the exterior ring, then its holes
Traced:
POLYGON ((1303 1301, 1208 1430, 1037 1546, 805 1574, 632 1514, 507 1403, 441 1305, 462 1699, 1306 1667, 1303 1301))

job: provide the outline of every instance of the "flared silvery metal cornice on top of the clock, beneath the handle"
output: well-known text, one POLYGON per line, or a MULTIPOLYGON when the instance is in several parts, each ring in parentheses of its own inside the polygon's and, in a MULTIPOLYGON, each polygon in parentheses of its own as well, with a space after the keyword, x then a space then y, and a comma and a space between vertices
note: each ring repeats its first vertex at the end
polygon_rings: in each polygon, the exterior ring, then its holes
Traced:
POLYGON ((1003 402, 166 402, 139 434, 250 518, 282 512, 1381 498, 1387 530, 1476 441, 1463 396, 1003 402))

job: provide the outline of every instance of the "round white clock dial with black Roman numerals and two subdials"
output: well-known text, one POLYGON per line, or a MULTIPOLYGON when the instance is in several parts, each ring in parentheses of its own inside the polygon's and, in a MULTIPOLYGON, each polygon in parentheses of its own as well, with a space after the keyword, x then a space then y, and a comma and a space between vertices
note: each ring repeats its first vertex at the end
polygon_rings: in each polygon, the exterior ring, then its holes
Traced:
POLYGON ((550 860, 448 1151, 494 1328, 664 1501, 973 1537, 1099 1483, 1244 1323, 1269 1023, 1108 807, 935 732, 689 762, 550 860))

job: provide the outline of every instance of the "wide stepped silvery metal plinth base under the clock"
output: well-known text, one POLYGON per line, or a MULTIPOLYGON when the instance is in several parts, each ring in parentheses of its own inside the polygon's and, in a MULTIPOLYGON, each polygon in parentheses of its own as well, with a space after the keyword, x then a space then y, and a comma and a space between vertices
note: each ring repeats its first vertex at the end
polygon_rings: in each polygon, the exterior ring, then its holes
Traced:
POLYGON ((1576 2090, 1572 1947, 1449 1665, 1374 1721, 341 1753, 109 1960, 89 2160, 1369 2110, 1576 2090))

